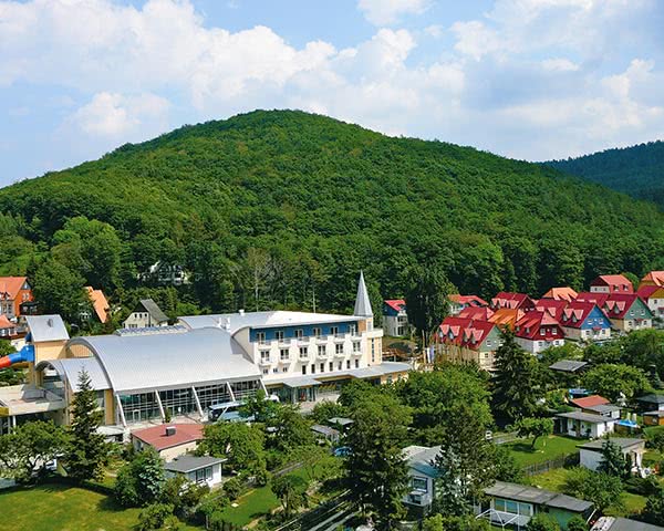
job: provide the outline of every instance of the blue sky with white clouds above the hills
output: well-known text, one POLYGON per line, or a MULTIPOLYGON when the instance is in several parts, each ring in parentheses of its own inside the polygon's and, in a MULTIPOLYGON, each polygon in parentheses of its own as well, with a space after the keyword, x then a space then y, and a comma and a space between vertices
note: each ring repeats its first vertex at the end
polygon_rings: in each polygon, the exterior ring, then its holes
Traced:
POLYGON ((255 108, 527 160, 664 139, 661 0, 0 0, 0 186, 255 108))

